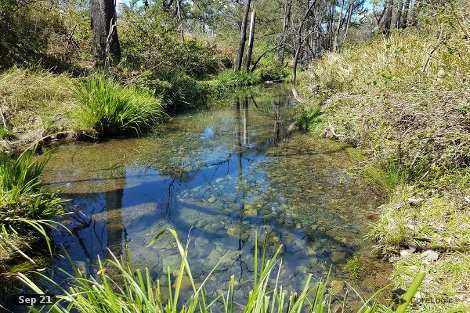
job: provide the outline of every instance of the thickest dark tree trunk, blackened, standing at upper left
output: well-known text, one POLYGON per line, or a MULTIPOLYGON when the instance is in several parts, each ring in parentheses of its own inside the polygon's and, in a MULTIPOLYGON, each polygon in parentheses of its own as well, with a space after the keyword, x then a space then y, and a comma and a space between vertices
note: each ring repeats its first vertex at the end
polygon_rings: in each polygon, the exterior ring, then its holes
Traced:
POLYGON ((117 33, 116 3, 113 0, 91 0, 90 14, 95 42, 95 66, 119 61, 121 48, 117 33))

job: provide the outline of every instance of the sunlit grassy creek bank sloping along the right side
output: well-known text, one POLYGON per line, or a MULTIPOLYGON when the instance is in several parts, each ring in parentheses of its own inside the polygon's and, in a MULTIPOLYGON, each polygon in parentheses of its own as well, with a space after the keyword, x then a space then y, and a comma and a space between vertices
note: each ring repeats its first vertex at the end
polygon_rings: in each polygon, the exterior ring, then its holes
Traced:
MULTIPOLYGON (((447 312, 470 306, 470 67, 440 50, 419 70, 436 33, 429 26, 325 54, 301 83, 308 100, 297 121, 368 151, 357 172, 389 195, 370 236, 394 265, 395 287, 422 270, 421 297, 444 300, 418 307, 447 312)), ((465 54, 461 35, 448 44, 465 54)))

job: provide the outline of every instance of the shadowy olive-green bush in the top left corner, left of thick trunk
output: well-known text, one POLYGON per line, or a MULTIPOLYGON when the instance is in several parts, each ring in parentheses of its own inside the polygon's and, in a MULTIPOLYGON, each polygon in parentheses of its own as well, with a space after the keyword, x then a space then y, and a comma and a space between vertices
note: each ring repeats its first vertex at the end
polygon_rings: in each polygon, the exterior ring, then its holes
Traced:
POLYGON ((91 30, 79 2, 0 1, 0 69, 40 64, 63 71, 72 61, 89 62, 91 30))

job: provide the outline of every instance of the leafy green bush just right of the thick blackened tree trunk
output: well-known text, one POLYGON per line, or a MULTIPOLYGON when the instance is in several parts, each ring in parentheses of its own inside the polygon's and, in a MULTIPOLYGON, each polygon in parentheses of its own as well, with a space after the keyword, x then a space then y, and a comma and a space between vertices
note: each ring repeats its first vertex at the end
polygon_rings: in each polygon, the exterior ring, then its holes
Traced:
POLYGON ((201 79, 223 66, 221 52, 209 42, 186 36, 183 44, 178 21, 160 4, 122 9, 119 39, 124 72, 178 72, 201 79))

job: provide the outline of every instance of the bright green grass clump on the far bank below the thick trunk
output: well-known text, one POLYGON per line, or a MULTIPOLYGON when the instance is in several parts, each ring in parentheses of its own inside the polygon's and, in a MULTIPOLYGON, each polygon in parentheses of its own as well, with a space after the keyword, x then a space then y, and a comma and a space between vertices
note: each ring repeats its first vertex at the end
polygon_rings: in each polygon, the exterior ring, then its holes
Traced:
POLYGON ((82 126, 100 136, 140 135, 165 116, 162 100, 149 91, 122 86, 103 75, 79 83, 76 97, 82 126))

